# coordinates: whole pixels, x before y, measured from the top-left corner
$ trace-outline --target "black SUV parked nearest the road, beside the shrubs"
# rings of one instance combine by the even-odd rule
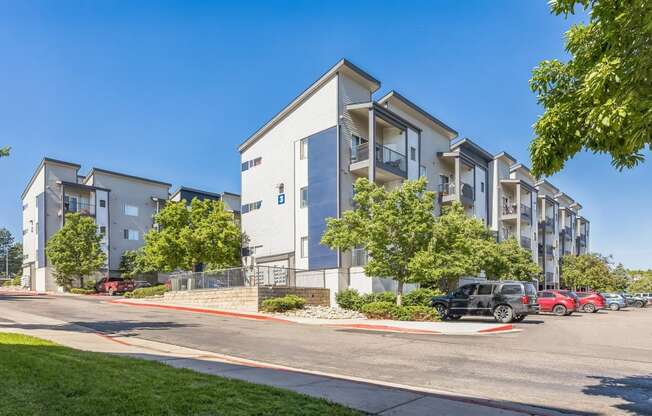
[[[507,323],[520,322],[529,314],[539,313],[534,284],[511,280],[464,285],[448,295],[432,298],[430,305],[444,320],[485,315]]]

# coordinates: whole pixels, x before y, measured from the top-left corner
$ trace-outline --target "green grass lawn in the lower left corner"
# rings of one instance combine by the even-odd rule
[[[0,333],[0,415],[359,415],[290,391]]]

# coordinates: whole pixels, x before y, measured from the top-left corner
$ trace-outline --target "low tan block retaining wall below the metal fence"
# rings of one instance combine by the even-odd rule
[[[265,299],[289,294],[301,296],[308,305],[330,306],[328,289],[289,287],[232,287],[226,289],[204,289],[167,292],[163,303],[178,305],[207,306],[219,309],[257,312]]]

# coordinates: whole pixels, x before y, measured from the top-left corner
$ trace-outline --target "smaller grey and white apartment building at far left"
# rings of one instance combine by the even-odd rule
[[[37,291],[59,289],[45,248],[67,213],[93,218],[107,255],[103,272],[117,274],[122,253],[142,246],[160,201],[168,199],[169,183],[99,168],[80,175],[80,168],[44,158],[22,194],[23,276]]]

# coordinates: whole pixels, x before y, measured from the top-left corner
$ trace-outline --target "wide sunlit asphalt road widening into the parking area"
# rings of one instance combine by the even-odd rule
[[[0,295],[0,319],[3,308],[107,333],[451,394],[575,414],[652,415],[652,307],[542,314],[515,325],[523,332],[485,336],[259,322],[96,297]]]

